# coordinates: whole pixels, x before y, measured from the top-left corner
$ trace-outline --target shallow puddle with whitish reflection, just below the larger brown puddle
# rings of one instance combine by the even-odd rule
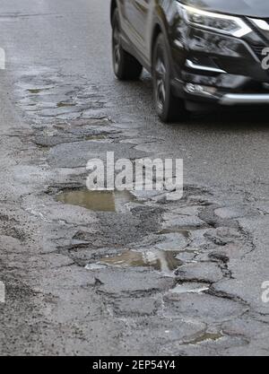
[[[135,252],[126,250],[115,257],[103,257],[100,264],[118,266],[118,267],[152,267],[163,273],[170,273],[182,265],[182,262],[176,258],[178,252],[148,250],[144,252]]]

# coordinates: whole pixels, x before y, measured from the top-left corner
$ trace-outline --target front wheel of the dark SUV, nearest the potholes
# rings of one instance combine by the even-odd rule
[[[163,122],[178,122],[187,118],[184,100],[176,97],[171,89],[169,50],[163,34],[156,39],[152,56],[154,103]]]

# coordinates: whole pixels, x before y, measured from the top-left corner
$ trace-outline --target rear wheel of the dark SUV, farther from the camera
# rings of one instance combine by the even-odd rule
[[[137,81],[140,78],[143,66],[121,46],[117,9],[112,20],[112,54],[113,68],[117,79],[120,81]]]

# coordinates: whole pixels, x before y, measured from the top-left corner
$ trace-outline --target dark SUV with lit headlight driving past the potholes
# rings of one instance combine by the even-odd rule
[[[163,121],[269,103],[268,0],[112,0],[111,23],[117,78],[151,72]]]

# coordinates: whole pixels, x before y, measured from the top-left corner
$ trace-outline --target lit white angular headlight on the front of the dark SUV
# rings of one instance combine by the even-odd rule
[[[221,34],[241,38],[252,30],[239,17],[206,12],[192,6],[178,4],[187,23],[206,30],[213,30]]]

